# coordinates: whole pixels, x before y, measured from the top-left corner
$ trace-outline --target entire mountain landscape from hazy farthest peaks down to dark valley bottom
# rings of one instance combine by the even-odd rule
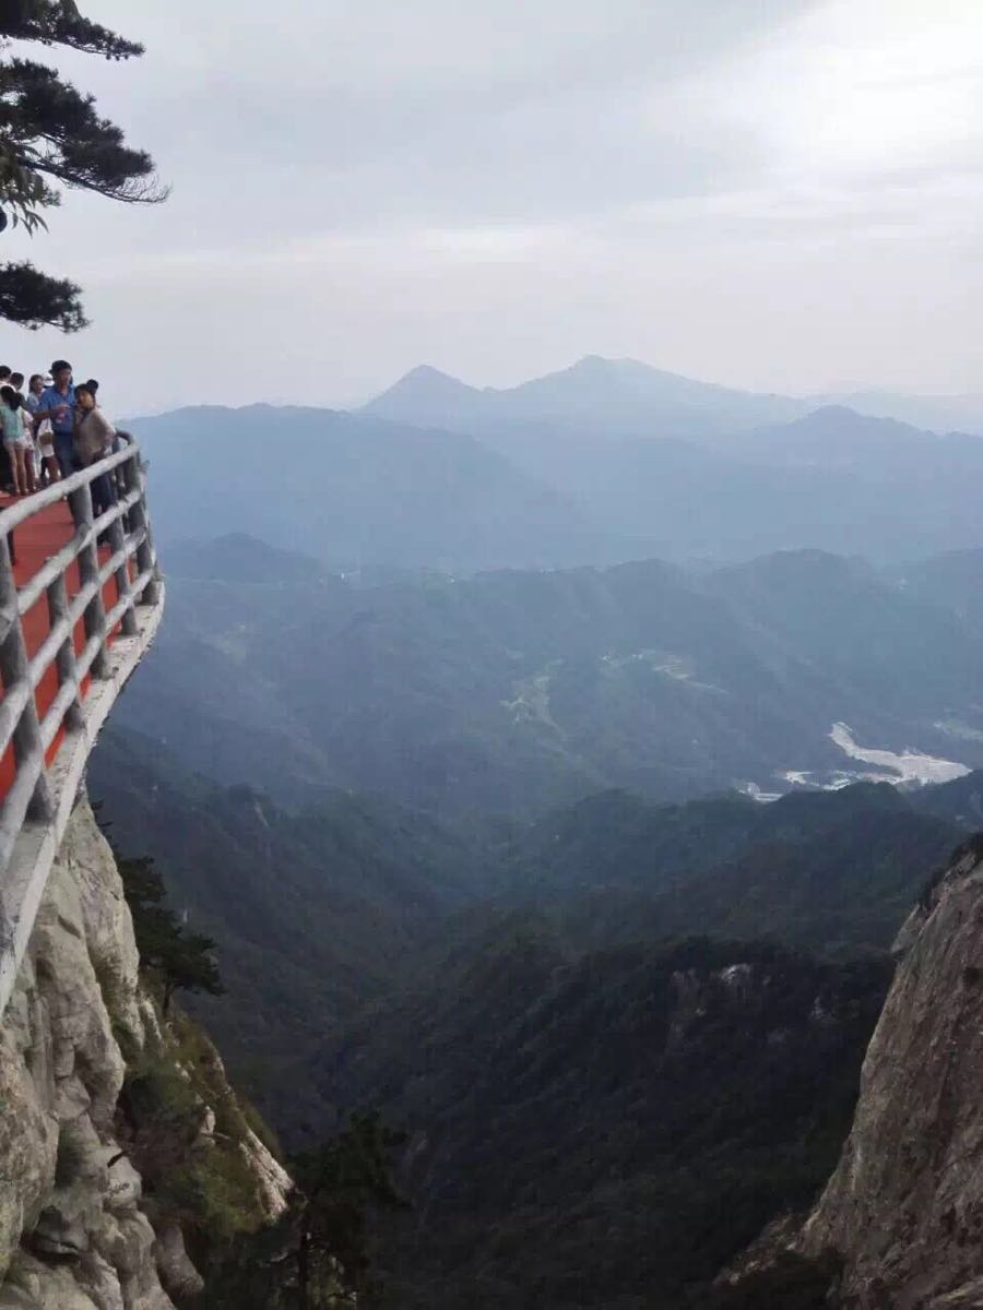
[[[983,427],[851,400],[588,358],[132,424],[168,621],[92,782],[287,1141],[409,1129],[385,1310],[717,1310],[834,1169],[983,823]]]

